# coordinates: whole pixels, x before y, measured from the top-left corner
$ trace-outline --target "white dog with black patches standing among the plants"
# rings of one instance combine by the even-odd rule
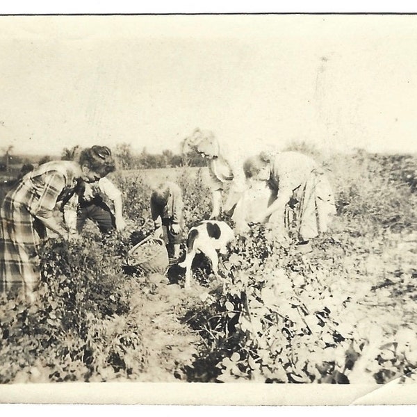
[[[218,277],[218,253],[227,254],[227,244],[234,240],[234,231],[225,222],[216,220],[204,220],[190,229],[187,237],[186,259],[179,263],[181,268],[186,268],[185,288],[190,288],[191,265],[195,254],[202,252],[211,261],[214,275]]]

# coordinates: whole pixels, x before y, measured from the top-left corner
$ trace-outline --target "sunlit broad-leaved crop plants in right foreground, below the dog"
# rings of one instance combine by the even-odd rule
[[[347,250],[332,238],[320,249],[335,244]],[[206,346],[189,380],[385,383],[416,366],[415,329],[390,332],[368,318],[343,263],[319,250],[303,256],[263,227],[230,252],[222,285],[200,297],[203,316],[186,318]]]

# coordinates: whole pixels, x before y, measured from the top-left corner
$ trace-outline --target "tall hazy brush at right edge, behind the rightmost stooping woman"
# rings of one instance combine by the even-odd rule
[[[353,234],[417,226],[417,158],[358,152],[332,162],[338,214]],[[414,173],[414,174],[411,174]]]

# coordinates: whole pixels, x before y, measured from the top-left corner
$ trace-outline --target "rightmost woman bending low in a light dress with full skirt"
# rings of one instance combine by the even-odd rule
[[[252,222],[267,222],[284,236],[293,229],[300,244],[327,231],[336,214],[334,195],[327,174],[313,158],[299,152],[263,153],[248,158],[244,171],[248,181],[261,181],[272,193]]]

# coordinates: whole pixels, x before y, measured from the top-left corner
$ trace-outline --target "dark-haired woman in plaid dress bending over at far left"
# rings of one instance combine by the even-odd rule
[[[40,281],[38,250],[47,228],[70,237],[54,216],[56,204],[76,204],[74,192],[82,181],[97,181],[114,170],[110,149],[93,146],[81,152],[78,163],[40,165],[8,192],[0,209],[0,292],[23,290],[33,300]]]

